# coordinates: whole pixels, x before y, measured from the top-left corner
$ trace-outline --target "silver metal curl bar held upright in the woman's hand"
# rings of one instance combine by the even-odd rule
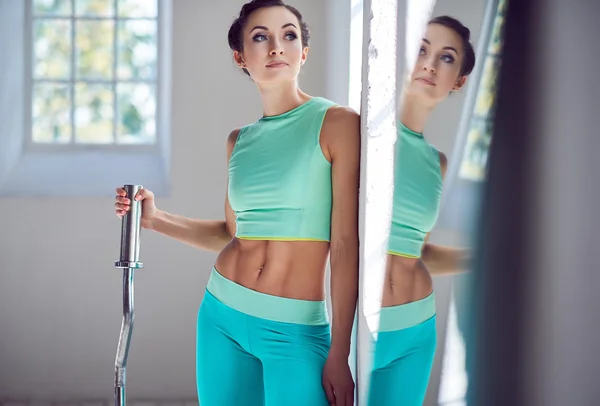
[[[142,218],[141,202],[134,200],[142,189],[141,185],[125,185],[127,197],[131,199],[130,210],[123,216],[121,223],[121,256],[115,262],[116,268],[123,268],[123,321],[115,360],[115,406],[125,406],[125,384],[127,356],[133,330],[133,277],[136,269],[144,267],[140,262],[140,230]]]

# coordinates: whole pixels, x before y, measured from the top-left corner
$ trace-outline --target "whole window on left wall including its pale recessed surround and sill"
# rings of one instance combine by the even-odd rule
[[[172,1],[5,3],[0,197],[167,194]]]

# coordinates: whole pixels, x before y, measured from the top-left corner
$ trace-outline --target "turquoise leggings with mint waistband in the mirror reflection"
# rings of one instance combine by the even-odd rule
[[[435,296],[383,307],[368,406],[422,406],[436,348]]]

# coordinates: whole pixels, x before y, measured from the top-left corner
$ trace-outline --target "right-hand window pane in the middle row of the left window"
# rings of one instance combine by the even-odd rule
[[[118,78],[121,80],[155,79],[156,21],[120,21],[118,30]]]

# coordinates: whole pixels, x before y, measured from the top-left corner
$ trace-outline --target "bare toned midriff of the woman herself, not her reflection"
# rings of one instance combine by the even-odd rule
[[[241,240],[221,251],[215,268],[257,292],[300,300],[325,300],[325,241]]]

